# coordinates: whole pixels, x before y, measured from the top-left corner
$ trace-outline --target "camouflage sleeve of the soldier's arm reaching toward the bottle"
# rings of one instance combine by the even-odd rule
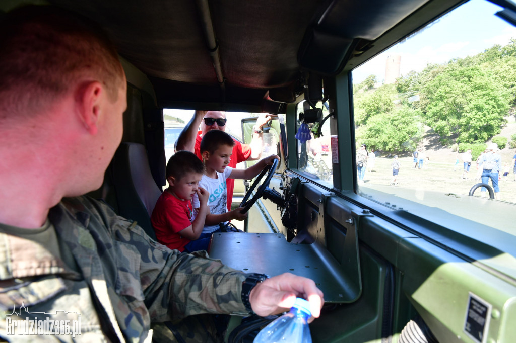
[[[106,207],[102,212],[105,210],[110,211]],[[240,295],[246,273],[209,259],[204,251],[187,254],[170,250],[139,226],[124,225],[124,218],[108,215],[104,220],[111,237],[126,246],[123,264],[139,271],[153,322],[202,313],[248,315]]]

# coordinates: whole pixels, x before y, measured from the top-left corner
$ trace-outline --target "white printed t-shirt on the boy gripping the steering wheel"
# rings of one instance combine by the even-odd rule
[[[228,212],[228,190],[226,187],[226,179],[230,176],[232,167],[225,167],[224,173],[217,173],[217,178],[212,179],[206,175],[203,175],[201,181],[199,181],[199,187],[203,187],[206,191],[208,191],[208,207],[209,213],[211,214],[224,214]],[[199,197],[196,195],[193,196],[193,208],[199,208]],[[224,224],[226,224],[224,222]],[[209,233],[217,230],[219,225],[211,225],[204,226],[202,229],[202,233]]]

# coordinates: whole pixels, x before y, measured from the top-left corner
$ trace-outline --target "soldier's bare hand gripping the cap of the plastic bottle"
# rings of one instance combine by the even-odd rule
[[[297,297],[310,302],[312,317],[309,322],[319,317],[324,304],[322,291],[313,280],[291,273],[284,273],[257,284],[251,289],[249,302],[254,313],[266,317],[288,311]]]

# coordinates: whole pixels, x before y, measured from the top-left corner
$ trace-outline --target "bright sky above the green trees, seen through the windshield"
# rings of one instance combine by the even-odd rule
[[[495,44],[507,45],[516,38],[516,27],[494,15],[502,7],[486,0],[471,0],[433,22],[410,39],[398,43],[353,71],[353,83],[369,75],[385,78],[386,58],[401,56],[400,74],[419,72],[428,63],[446,63],[456,57],[473,56]]]

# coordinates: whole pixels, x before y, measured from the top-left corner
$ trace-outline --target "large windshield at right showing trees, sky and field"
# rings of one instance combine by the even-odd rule
[[[516,28],[500,10],[465,3],[352,72],[358,194],[514,232]]]

